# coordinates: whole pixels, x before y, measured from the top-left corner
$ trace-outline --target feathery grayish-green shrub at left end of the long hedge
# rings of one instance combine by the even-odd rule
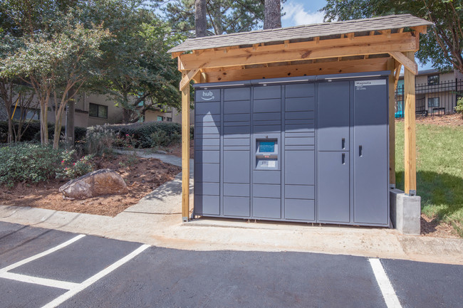
[[[115,134],[108,129],[108,125],[88,127],[85,135],[85,148],[88,154],[101,156],[113,150]]]

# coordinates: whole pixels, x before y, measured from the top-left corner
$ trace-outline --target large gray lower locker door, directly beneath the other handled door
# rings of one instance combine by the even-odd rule
[[[318,221],[349,222],[349,152],[318,152]]]

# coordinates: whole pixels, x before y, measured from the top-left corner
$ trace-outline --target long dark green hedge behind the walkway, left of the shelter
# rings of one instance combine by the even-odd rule
[[[104,129],[114,132],[113,145],[116,147],[165,147],[179,142],[182,135],[182,126],[172,122],[107,124]]]

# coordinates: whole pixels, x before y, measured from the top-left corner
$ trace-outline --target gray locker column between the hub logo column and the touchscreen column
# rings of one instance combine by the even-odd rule
[[[249,217],[251,89],[225,87],[223,91],[223,215]]]

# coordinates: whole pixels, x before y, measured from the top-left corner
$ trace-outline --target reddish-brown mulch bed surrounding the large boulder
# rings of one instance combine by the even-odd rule
[[[125,208],[138,203],[157,186],[174,179],[181,171],[180,167],[165,164],[159,159],[142,159],[131,155],[113,155],[109,159],[95,159],[94,162],[95,170],[108,168],[118,172],[127,184],[129,193],[85,200],[64,200],[58,188],[66,184],[66,181],[53,179],[40,184],[1,187],[0,204],[116,216]]]

